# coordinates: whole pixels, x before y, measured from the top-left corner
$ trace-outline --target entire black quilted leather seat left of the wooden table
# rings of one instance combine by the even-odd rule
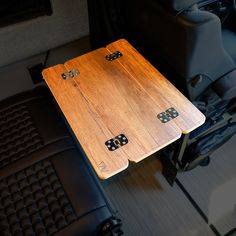
[[[114,216],[47,91],[2,101],[0,235],[120,235]]]

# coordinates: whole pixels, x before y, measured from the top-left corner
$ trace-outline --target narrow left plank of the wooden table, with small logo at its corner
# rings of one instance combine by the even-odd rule
[[[107,140],[113,137],[113,134],[87,103],[77,83],[73,79],[61,78],[63,72],[65,67],[58,65],[45,70],[43,75],[47,78],[49,88],[95,171],[100,178],[105,179],[126,169],[128,160],[123,149],[118,149],[116,155],[110,155],[104,148],[104,142],[101,143],[100,139]],[[83,127],[84,124],[87,124],[86,128]]]

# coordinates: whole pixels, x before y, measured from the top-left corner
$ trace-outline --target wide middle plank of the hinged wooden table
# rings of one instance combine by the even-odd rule
[[[178,139],[181,132],[171,123],[163,128],[156,117],[161,108],[134,83],[120,63],[104,60],[107,54],[105,48],[98,49],[65,65],[68,70],[80,69],[80,76],[75,80],[83,96],[113,134],[109,138],[124,133],[130,145],[124,146],[123,150],[129,160],[138,162]],[[101,139],[101,142],[106,140]]]

